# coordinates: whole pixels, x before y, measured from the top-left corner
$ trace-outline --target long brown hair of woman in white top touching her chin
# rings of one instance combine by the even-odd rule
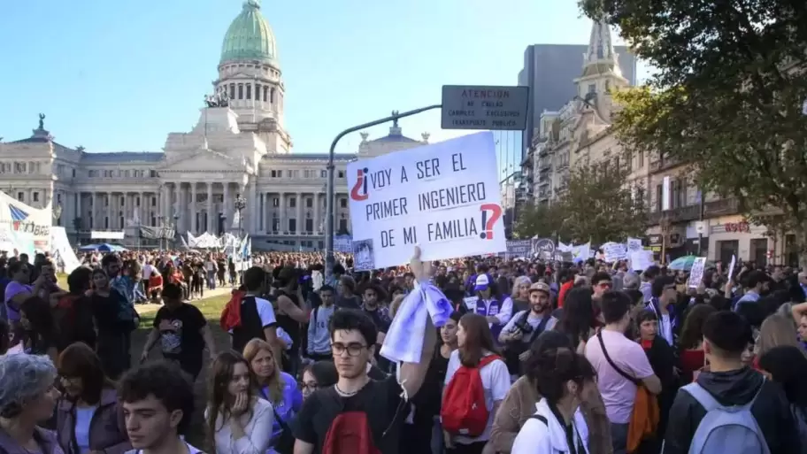
[[[227,419],[230,418],[230,407],[233,404],[233,396],[227,395],[227,386],[233,380],[233,373],[235,365],[242,364],[247,367],[250,372],[250,386],[247,387],[247,396],[250,398],[250,403],[253,398],[253,389],[255,387],[255,375],[252,373],[250,363],[246,358],[234,350],[222,351],[219,356],[213,360],[210,369],[210,378],[208,383],[208,398],[207,398],[207,435],[210,439],[211,450],[215,451],[215,436],[216,431],[227,424]],[[216,427],[216,419],[219,419],[219,412],[222,413],[221,427]],[[252,409],[250,405],[250,419],[252,418]]]

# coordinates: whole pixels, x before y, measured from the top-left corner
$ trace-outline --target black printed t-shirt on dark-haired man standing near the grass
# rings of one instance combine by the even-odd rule
[[[153,326],[159,331],[163,356],[179,361],[182,366],[201,366],[205,325],[207,320],[193,304],[183,303],[174,309],[161,307]]]

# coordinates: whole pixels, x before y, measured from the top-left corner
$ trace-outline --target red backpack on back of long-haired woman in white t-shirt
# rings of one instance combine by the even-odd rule
[[[488,407],[480,370],[496,361],[496,355],[480,359],[479,366],[459,366],[442,397],[442,428],[453,435],[479,436],[488,426]]]

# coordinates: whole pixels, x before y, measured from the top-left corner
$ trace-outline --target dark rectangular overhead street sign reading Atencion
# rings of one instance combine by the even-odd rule
[[[443,129],[523,131],[529,87],[442,86]]]

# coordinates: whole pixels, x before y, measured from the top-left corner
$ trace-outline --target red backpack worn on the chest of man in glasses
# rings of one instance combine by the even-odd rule
[[[381,454],[365,412],[343,412],[328,427],[322,454]]]

